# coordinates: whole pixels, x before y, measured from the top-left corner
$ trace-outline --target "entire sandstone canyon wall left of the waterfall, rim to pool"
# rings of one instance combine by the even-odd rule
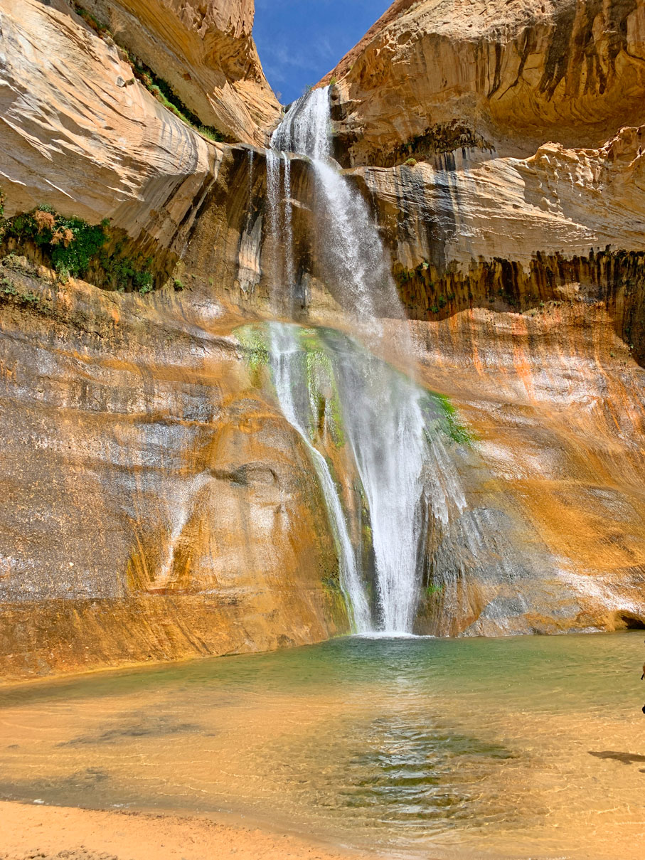
[[[248,151],[135,77],[140,57],[202,123],[263,140],[278,105],[253,4],[140,6],[0,7],[3,678],[347,630],[315,474],[236,335],[253,313],[215,295],[234,277],[246,215],[229,224],[224,204]],[[218,262],[198,278],[181,260],[206,200]],[[103,261],[86,277],[110,290],[11,232],[37,206],[109,222],[111,275]],[[132,292],[135,255],[163,290]]]

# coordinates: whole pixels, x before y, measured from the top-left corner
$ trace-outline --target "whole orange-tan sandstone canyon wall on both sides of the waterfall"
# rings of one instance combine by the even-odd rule
[[[276,294],[251,144],[278,108],[251,4],[138,6],[93,0],[94,23],[63,0],[0,6],[5,215],[109,218],[157,286],[65,281],[3,243],[7,678],[348,627],[316,472],[248,333],[275,317],[351,331],[310,165],[292,159],[296,283]],[[419,632],[645,624],[643,15],[399,0],[329,76],[337,157],[390,254],[419,378],[467,431],[450,453],[468,506],[431,525]],[[228,141],[164,107],[124,48]]]

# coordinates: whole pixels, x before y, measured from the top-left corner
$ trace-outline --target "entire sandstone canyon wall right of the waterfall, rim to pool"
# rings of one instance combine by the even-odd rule
[[[643,15],[401,0],[326,79],[423,378],[477,439],[478,560],[466,528],[433,550],[420,629],[642,624]]]

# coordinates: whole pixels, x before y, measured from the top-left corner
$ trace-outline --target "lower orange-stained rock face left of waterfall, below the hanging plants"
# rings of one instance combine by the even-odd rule
[[[252,384],[243,320],[207,285],[141,298],[15,265],[0,302],[3,677],[347,630],[315,475]]]

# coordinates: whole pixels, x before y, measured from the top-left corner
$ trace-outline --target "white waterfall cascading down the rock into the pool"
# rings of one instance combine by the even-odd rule
[[[344,310],[353,315],[366,346],[379,351],[383,336],[379,317],[403,318],[404,314],[365,201],[330,158],[328,89],[316,89],[298,100],[273,132],[271,144],[272,150],[267,153],[269,208],[273,212],[270,218],[274,235],[280,233],[282,237],[282,276],[292,276],[294,271],[289,232],[291,163],[284,155],[289,152],[310,157],[314,170],[319,203],[316,229],[324,234],[321,246],[325,277],[334,281],[336,296]],[[280,183],[280,161],[284,165],[284,183]],[[283,200],[279,200],[280,185]],[[289,281],[290,289],[291,286]],[[313,405],[302,370],[306,356],[298,341],[298,326],[269,323],[269,329],[273,382],[280,407],[309,446],[335,531],[341,556],[341,585],[351,605],[355,629],[408,633],[421,585],[420,560],[428,507],[433,518],[444,524],[451,506],[458,510],[464,507],[463,494],[436,432],[437,409],[428,409],[427,392],[410,378],[361,351],[345,335],[321,335],[341,401],[343,430],[369,509],[377,590],[376,606],[371,611],[339,490],[307,431]],[[411,344],[405,347],[402,352],[411,354]]]

